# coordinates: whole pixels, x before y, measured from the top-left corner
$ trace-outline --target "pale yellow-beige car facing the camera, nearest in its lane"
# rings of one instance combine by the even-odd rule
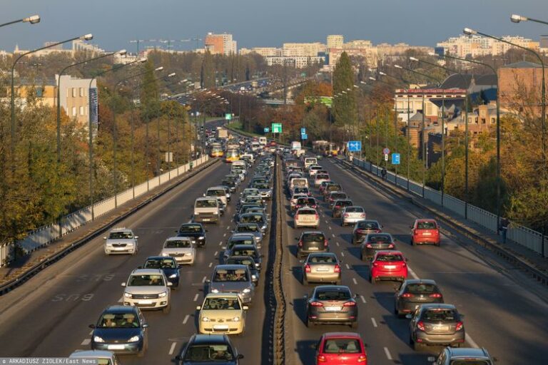
[[[201,334],[243,334],[245,331],[245,311],[236,293],[211,293],[196,307],[198,329]]]

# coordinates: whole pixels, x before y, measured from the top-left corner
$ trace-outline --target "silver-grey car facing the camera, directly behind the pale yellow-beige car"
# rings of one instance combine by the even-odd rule
[[[243,304],[249,304],[255,294],[255,285],[246,265],[217,265],[206,283],[208,293],[236,293]]]

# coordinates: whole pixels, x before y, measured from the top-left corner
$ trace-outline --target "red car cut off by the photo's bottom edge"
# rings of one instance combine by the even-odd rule
[[[360,334],[327,332],[316,348],[316,365],[367,365],[367,353]]]

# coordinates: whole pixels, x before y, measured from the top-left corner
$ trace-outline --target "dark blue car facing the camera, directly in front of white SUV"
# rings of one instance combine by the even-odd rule
[[[148,348],[148,324],[141,309],[126,305],[107,307],[96,324],[90,324],[91,349],[116,354],[145,355]]]

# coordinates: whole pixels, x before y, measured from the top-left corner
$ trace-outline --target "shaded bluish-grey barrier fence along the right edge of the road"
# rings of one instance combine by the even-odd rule
[[[372,163],[362,161],[358,158],[354,158],[352,163],[363,170],[380,176],[380,170],[382,170],[382,168],[377,167]],[[442,205],[448,210],[454,212],[456,215],[460,215],[460,217],[467,217],[467,220],[476,222],[478,225],[487,228],[487,230],[497,233],[497,216],[491,212],[487,212],[487,210],[467,204],[466,202],[463,202],[462,200],[451,195],[442,195],[440,191],[422,185],[422,183],[417,183],[412,180],[407,181],[407,178],[400,175],[398,175],[396,179],[396,175],[390,171],[387,171],[386,180],[394,184],[397,180],[397,185],[403,189],[413,192],[414,194],[430,200],[437,205]],[[537,252],[543,257],[548,257],[548,237],[544,236],[543,240],[542,234],[539,232],[529,230],[529,228],[523,227],[522,225],[511,223],[507,231],[507,238],[519,245],[529,248],[529,250]]]

